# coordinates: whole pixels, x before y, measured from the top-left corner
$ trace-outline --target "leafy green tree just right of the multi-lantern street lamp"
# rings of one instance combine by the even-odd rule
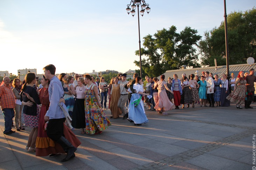
[[[148,76],[159,76],[167,70],[179,69],[182,65],[199,67],[198,54],[196,54],[197,42],[201,39],[198,31],[186,27],[180,33],[172,25],[168,30],[158,30],[157,33],[145,36],[144,47],[141,48],[141,67]],[[135,51],[139,56],[139,50]],[[139,61],[134,61],[139,66]]]

